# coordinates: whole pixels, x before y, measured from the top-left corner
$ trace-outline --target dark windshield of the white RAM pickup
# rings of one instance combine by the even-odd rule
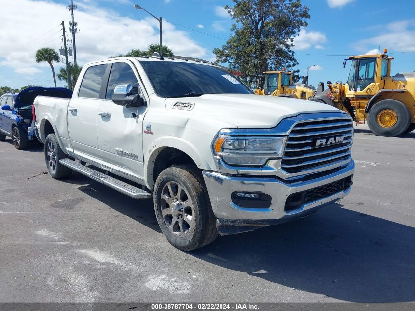
[[[203,94],[252,94],[235,76],[218,67],[173,61],[140,63],[156,94],[164,98]]]

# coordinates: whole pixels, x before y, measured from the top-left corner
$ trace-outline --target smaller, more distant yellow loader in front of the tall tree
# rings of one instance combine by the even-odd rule
[[[293,75],[291,72],[283,71],[265,71],[264,87],[257,88],[255,94],[270,95],[280,97],[291,97],[300,99],[311,98],[316,89],[314,86],[307,85],[307,76],[301,83],[293,84]]]

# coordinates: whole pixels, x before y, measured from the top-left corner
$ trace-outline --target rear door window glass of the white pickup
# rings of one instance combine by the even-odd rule
[[[79,97],[99,98],[105,69],[107,64],[92,66],[86,70],[79,88]]]

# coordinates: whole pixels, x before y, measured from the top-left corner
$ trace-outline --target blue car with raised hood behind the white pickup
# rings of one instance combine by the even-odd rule
[[[0,97],[0,141],[12,138],[18,150],[36,140],[33,122],[33,102],[37,96],[71,98],[72,91],[63,87],[28,87],[18,94],[7,92]]]

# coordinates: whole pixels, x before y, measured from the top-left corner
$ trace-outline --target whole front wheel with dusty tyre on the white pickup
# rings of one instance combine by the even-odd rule
[[[218,236],[203,178],[190,165],[172,166],[160,173],[154,187],[154,211],[168,242],[183,251],[205,246]]]

